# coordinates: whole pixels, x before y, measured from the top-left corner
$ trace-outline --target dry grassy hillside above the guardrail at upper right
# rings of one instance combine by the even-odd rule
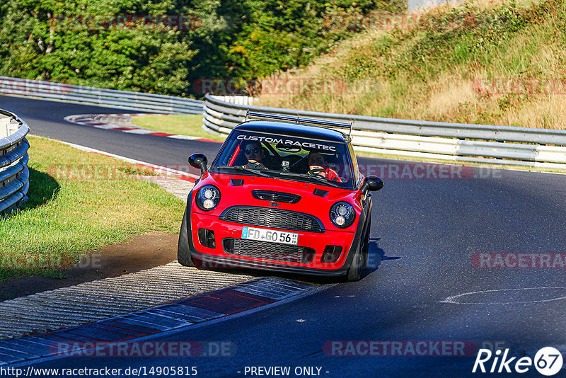
[[[367,30],[308,67],[277,76],[322,80],[325,89],[262,93],[260,105],[566,130],[565,9],[562,0],[439,6],[394,30]],[[473,23],[422,27],[454,14],[508,21],[487,35]]]

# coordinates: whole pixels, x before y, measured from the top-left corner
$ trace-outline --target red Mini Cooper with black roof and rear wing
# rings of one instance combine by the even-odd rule
[[[366,263],[371,191],[342,122],[249,112],[187,198],[178,261],[359,280]],[[321,127],[325,126],[325,127]]]

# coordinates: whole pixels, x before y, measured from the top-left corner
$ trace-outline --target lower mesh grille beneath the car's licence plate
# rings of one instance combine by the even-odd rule
[[[263,258],[265,260],[284,261],[286,263],[311,263],[314,258],[313,248],[290,246],[247,239],[226,238],[222,241],[224,252],[236,256]]]

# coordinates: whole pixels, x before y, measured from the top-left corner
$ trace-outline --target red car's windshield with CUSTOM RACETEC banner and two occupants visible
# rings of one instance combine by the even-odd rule
[[[299,179],[352,188],[345,142],[236,130],[224,143],[214,170]]]

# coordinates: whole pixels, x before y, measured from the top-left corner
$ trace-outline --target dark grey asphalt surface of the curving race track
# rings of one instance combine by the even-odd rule
[[[152,164],[186,164],[197,151],[212,161],[220,146],[63,120],[123,110],[4,96],[0,108],[20,115],[33,134]],[[258,367],[290,367],[289,377],[308,375],[295,375],[296,367],[314,367],[321,377],[492,377],[472,373],[479,348],[499,345],[531,358],[545,346],[566,353],[566,176],[466,168],[461,178],[415,178],[415,165],[404,161],[359,162],[383,170],[385,181],[373,195],[371,267],[361,281],[149,339],[232,343],[224,356],[67,357],[34,366],[195,366],[199,377],[277,376]],[[412,173],[403,176],[404,169]],[[370,351],[364,340],[378,347]],[[419,341],[424,355],[407,346]],[[431,345],[448,346],[437,353]],[[534,367],[520,375],[541,377]],[[564,369],[555,375],[565,376]]]

